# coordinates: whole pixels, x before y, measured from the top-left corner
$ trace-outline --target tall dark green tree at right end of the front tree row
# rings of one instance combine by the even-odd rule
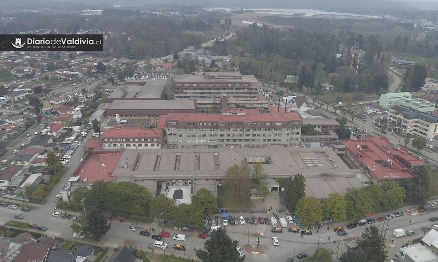
[[[407,200],[415,204],[425,204],[431,195],[431,177],[424,166],[416,166],[412,170],[413,178],[407,186]]]

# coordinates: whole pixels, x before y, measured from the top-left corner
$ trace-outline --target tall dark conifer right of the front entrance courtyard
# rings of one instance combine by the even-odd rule
[[[305,188],[306,180],[304,179],[304,175],[297,174],[293,179],[292,177],[289,178],[289,182],[284,188],[283,201],[290,213],[295,211],[298,200],[306,196],[304,193]]]

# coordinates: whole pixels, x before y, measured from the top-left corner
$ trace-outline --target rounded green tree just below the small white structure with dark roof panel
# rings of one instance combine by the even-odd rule
[[[201,229],[205,226],[204,215],[193,204],[180,204],[175,212],[174,225],[189,229]]]

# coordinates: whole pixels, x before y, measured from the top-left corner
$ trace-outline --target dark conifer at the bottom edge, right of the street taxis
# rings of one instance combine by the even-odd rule
[[[380,234],[376,226],[365,228],[361,234],[359,247],[364,251],[368,261],[384,262],[388,257],[385,239]]]

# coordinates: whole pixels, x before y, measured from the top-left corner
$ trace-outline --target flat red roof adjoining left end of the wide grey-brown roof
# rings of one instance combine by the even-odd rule
[[[122,153],[121,151],[91,152],[72,176],[80,175],[81,179],[87,178],[87,182],[112,181],[112,174]]]

